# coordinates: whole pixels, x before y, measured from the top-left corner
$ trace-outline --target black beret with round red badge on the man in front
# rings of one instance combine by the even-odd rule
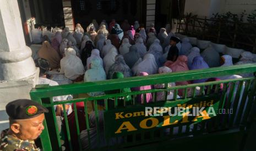
[[[10,119],[19,120],[37,117],[42,113],[47,113],[48,109],[35,101],[18,99],[6,105],[6,112]]]

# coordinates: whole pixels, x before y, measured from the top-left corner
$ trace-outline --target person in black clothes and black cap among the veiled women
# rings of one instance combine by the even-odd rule
[[[170,39],[170,49],[168,52],[167,60],[170,60],[172,62],[175,62],[179,56],[179,50],[176,46],[177,43],[179,43],[179,39],[177,37],[172,36]]]

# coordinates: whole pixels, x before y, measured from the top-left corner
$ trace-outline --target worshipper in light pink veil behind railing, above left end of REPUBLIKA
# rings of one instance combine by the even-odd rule
[[[138,74],[138,76],[146,76],[146,75],[149,75],[149,74],[146,72],[140,72]],[[133,90],[134,91],[143,91],[143,90],[151,90],[151,89],[152,89],[151,85],[145,85],[145,86],[140,86],[140,87],[134,88]],[[152,102],[152,94],[148,93],[145,95],[146,95],[146,100],[144,100],[144,103]],[[137,100],[137,102],[143,103],[143,94],[137,95],[136,100]]]

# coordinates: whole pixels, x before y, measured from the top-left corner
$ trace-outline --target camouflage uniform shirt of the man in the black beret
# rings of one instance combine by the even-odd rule
[[[20,140],[19,138],[16,138],[12,135],[8,135],[7,131],[8,131],[8,129],[2,131],[2,133],[1,133],[0,150],[3,150],[3,151],[40,150],[40,148],[36,148],[36,144],[34,141]]]

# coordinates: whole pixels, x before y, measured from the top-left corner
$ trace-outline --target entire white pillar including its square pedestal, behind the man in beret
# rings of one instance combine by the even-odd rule
[[[39,69],[26,46],[17,0],[0,0],[0,130],[8,127],[6,104],[30,98]]]

